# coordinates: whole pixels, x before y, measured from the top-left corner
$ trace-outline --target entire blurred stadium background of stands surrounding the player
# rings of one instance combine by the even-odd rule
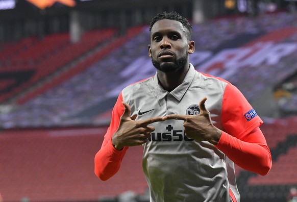
[[[142,201],[141,147],[98,180],[120,90],[155,73],[149,22],[191,20],[199,71],[235,84],[263,118],[266,176],[236,167],[243,202],[297,201],[297,15],[284,0],[0,0],[0,193],[3,201]]]

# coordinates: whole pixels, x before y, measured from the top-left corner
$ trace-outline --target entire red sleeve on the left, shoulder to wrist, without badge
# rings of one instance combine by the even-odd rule
[[[111,142],[112,135],[118,128],[120,116],[123,114],[122,95],[117,98],[112,110],[112,117],[109,128],[104,136],[100,150],[95,155],[95,174],[103,181],[110,179],[120,168],[121,161],[126,154],[128,147],[122,150],[114,148]]]

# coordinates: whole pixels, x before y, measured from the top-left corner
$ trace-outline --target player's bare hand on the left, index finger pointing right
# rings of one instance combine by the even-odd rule
[[[136,115],[130,116],[131,107],[125,102],[122,102],[122,104],[125,111],[120,117],[117,131],[112,136],[112,144],[118,150],[121,150],[124,146],[136,146],[147,142],[147,138],[155,131],[155,127],[149,126],[149,124],[164,121],[164,117],[136,121]]]

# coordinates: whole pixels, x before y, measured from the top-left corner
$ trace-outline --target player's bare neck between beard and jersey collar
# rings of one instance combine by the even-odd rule
[[[160,70],[157,70],[157,75],[160,84],[165,90],[171,92],[176,87],[181,85],[181,83],[184,81],[186,77],[189,68],[190,66],[189,64],[187,64],[184,68],[173,72],[162,72]]]

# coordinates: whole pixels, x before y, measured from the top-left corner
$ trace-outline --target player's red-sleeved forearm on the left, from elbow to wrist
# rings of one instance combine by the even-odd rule
[[[111,140],[105,144],[95,155],[95,174],[103,181],[110,179],[120,168],[127,147],[117,150]]]

